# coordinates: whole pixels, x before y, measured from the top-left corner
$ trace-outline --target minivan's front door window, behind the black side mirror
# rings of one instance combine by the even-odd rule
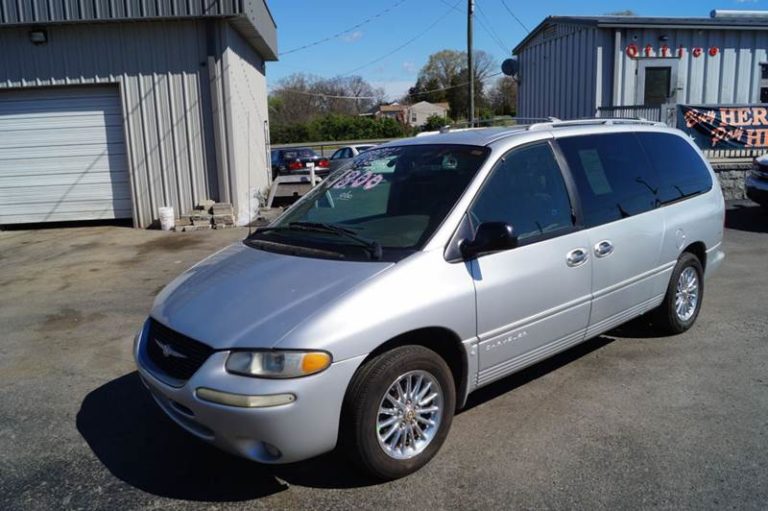
[[[519,243],[573,228],[571,202],[547,143],[513,149],[499,160],[470,209],[473,227],[506,222]]]

